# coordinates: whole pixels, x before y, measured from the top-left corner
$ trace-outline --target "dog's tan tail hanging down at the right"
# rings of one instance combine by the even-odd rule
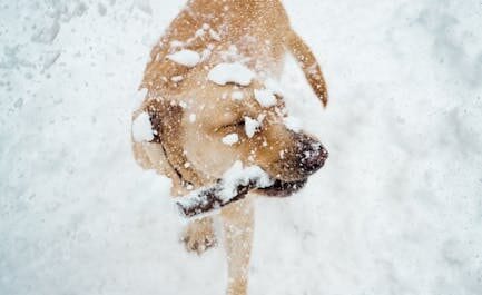
[[[322,100],[323,106],[326,107],[328,104],[328,90],[322,69],[319,68],[312,50],[293,30],[291,30],[287,36],[286,46],[298,61],[298,65],[302,67],[303,72],[316,96]]]

